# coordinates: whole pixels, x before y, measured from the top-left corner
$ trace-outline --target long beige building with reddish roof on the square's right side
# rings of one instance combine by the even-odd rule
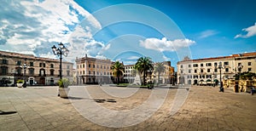
[[[220,63],[221,69],[218,68]],[[198,60],[187,57],[177,62],[177,83],[213,84],[218,83],[220,77],[232,79],[236,73],[244,71],[256,72],[256,52]]]

